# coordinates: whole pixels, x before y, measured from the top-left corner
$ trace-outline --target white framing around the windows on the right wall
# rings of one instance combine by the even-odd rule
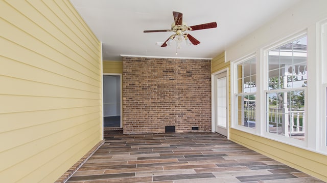
[[[322,29],[322,27],[325,27]],[[228,57],[230,60],[230,128],[253,134],[262,138],[270,139],[276,142],[281,142],[287,145],[298,147],[301,149],[313,151],[322,155],[327,155],[327,72],[322,69],[327,67],[327,42],[322,42],[321,33],[327,35],[327,18],[316,21],[314,24],[302,27],[300,31],[293,30],[293,33],[285,33],[277,36],[277,39],[270,39],[266,44],[261,44],[258,47],[253,47],[249,50],[244,50],[239,57]],[[304,141],[284,137],[281,135],[271,134],[266,132],[266,104],[267,92],[278,92],[277,90],[268,90],[268,50],[274,49],[278,46],[290,43],[295,39],[307,36],[307,87],[296,87],[291,90],[304,89],[305,90],[305,121],[311,120],[310,128],[306,122],[306,139]],[[276,38],[276,37],[275,37]],[[232,52],[235,53],[235,52]],[[249,59],[256,57],[256,129],[242,127],[237,125],[236,119],[237,106],[237,65]],[[264,121],[264,122],[263,122]]]

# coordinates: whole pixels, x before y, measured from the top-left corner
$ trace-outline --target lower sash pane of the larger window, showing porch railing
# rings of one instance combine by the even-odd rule
[[[305,140],[304,96],[305,90],[267,93],[267,132]]]

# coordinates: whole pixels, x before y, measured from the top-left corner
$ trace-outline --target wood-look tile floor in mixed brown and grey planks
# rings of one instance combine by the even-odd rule
[[[105,134],[67,182],[323,182],[216,133]]]

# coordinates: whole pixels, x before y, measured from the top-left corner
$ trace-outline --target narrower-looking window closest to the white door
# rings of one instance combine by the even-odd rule
[[[235,95],[237,125],[255,128],[256,60],[255,57],[237,64]]]

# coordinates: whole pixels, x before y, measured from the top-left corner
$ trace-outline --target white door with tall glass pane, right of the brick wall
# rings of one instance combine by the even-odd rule
[[[215,131],[227,137],[227,72],[215,75]]]

